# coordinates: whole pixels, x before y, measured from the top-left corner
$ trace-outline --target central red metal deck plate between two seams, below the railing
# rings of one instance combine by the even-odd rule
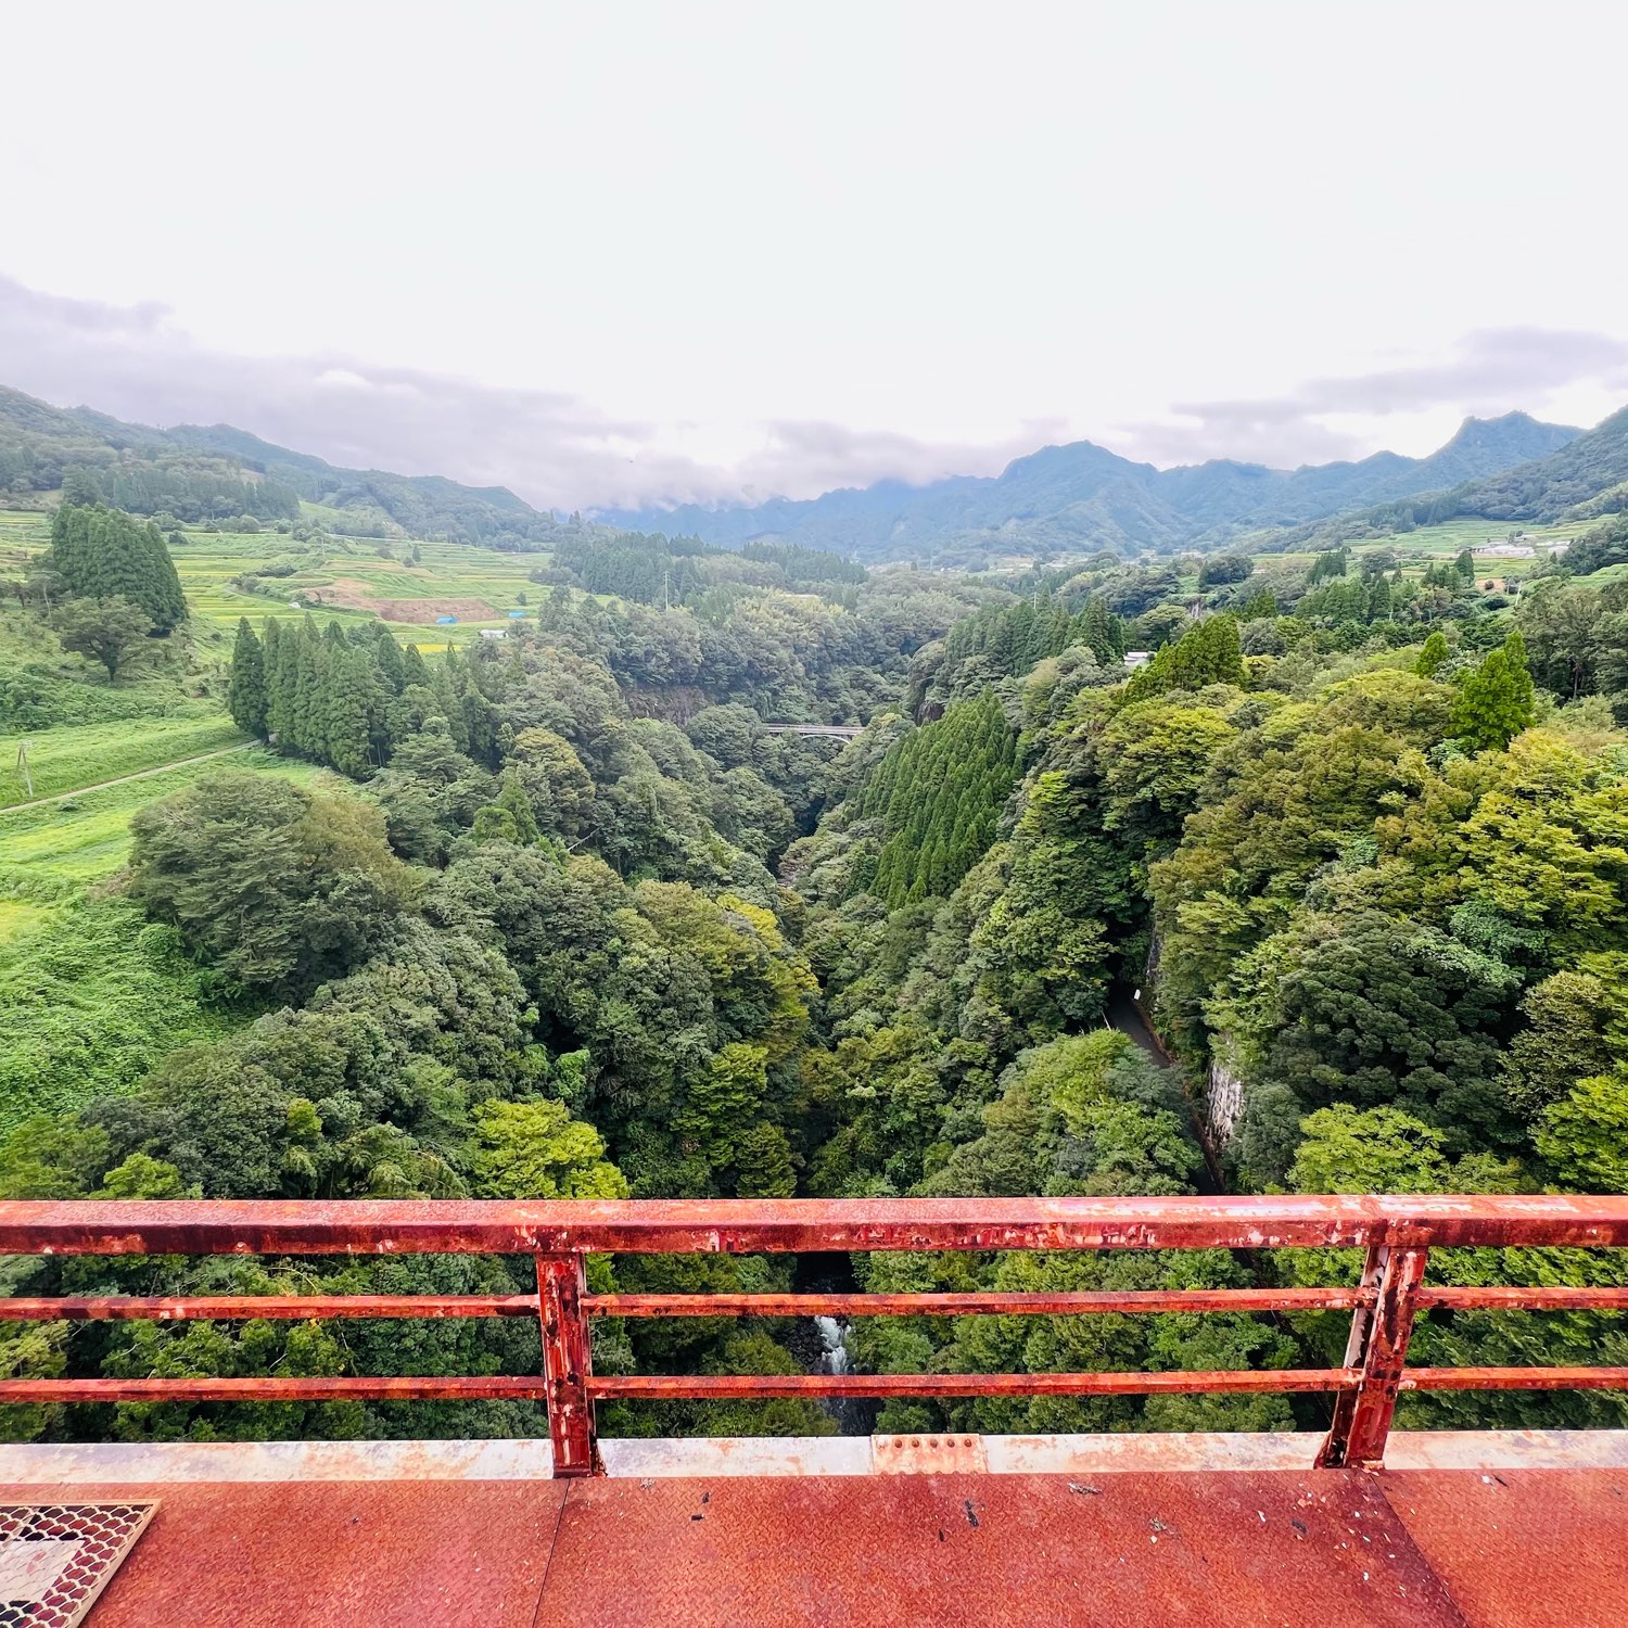
[[[588,1623],[1465,1628],[1374,1477],[1304,1470],[576,1481],[537,1628]]]

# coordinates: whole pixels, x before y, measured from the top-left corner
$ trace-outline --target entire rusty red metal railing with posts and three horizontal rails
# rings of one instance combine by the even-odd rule
[[[0,1402],[532,1398],[557,1475],[594,1468],[609,1397],[965,1397],[1327,1392],[1320,1465],[1376,1465],[1402,1390],[1628,1389],[1628,1368],[1408,1368],[1429,1307],[1621,1311],[1628,1288],[1426,1286],[1434,1247],[1628,1247],[1628,1197],[674,1200],[563,1203],[0,1203],[0,1255],[505,1254],[534,1294],[140,1296],[0,1301],[5,1319],[536,1317],[540,1374],[379,1379],[3,1379]],[[1356,1288],[1045,1294],[589,1294],[591,1254],[1364,1249]],[[1350,1311],[1332,1369],[1088,1374],[602,1374],[591,1317]]]

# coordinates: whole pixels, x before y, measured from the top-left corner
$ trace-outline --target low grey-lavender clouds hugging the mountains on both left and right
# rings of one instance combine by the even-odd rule
[[[552,508],[705,508],[876,482],[923,487],[995,475],[1070,433],[1061,418],[1042,418],[995,443],[931,441],[775,418],[754,451],[723,466],[681,451],[684,427],[615,417],[581,396],[344,355],[233,355],[200,345],[164,306],[63,298],[3,275],[0,360],[8,384],[62,405],[91,402],[142,423],[233,423],[335,464],[503,485]],[[1371,436],[1353,420],[1442,405],[1503,412],[1579,381],[1628,389],[1628,344],[1486,329],[1439,363],[1314,378],[1278,397],[1177,402],[1167,420],[1102,440],[1159,466],[1239,457],[1281,469],[1368,451]]]

